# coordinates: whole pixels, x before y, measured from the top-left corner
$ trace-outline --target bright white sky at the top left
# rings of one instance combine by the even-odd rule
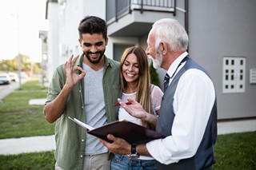
[[[46,0],[8,0],[0,6],[0,60],[19,53],[41,61],[39,30],[48,30]]]

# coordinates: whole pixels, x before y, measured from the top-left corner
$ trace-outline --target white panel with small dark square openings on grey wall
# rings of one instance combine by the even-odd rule
[[[223,57],[223,93],[243,93],[246,57]]]

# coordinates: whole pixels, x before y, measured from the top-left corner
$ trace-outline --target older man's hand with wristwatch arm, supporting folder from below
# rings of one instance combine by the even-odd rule
[[[102,144],[106,146],[110,150],[110,152],[114,152],[120,155],[128,155],[130,154],[130,144],[121,138],[115,137],[111,134],[107,135],[109,140],[112,140],[113,143],[109,143],[106,140],[99,139]]]

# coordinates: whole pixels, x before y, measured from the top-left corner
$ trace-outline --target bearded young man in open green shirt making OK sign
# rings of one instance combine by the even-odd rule
[[[55,70],[44,113],[46,121],[56,121],[56,169],[105,170],[110,168],[108,149],[68,117],[93,127],[118,119],[119,63],[104,55],[108,38],[101,18],[83,18],[78,33],[83,54]]]

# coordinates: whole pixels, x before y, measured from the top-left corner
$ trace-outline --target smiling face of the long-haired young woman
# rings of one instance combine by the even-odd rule
[[[123,62],[122,76],[127,83],[137,83],[139,77],[138,58],[134,53],[127,55],[126,60]]]

